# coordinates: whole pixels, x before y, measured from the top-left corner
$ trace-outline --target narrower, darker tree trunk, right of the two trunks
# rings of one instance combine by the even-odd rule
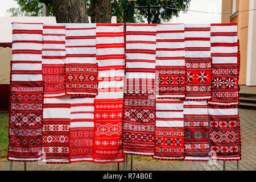
[[[111,0],[90,0],[90,21],[92,23],[111,23]]]

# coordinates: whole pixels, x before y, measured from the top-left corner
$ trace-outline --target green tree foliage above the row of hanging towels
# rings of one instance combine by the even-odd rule
[[[9,9],[9,13],[13,16],[38,16],[38,7],[40,2],[46,3],[49,6],[49,15],[52,15],[53,6],[52,0],[14,0],[18,3],[19,8]],[[147,6],[147,1],[150,1],[152,6],[163,5],[160,0],[137,0],[134,6]],[[191,0],[169,0],[166,6],[183,9],[151,9],[151,23],[168,22],[175,16],[179,16],[181,11],[185,12],[188,9]],[[131,3],[128,0],[112,0],[112,15],[117,16],[117,22],[144,23],[147,22],[147,9],[131,10]],[[86,0],[87,7],[90,5],[90,0]],[[90,15],[89,9],[87,9]]]

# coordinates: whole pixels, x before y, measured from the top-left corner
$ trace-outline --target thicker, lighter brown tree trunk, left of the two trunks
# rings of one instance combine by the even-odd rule
[[[57,23],[89,23],[86,0],[52,0]]]

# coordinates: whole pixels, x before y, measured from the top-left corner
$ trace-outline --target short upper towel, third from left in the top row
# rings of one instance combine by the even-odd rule
[[[66,89],[70,96],[97,94],[96,24],[66,24]]]

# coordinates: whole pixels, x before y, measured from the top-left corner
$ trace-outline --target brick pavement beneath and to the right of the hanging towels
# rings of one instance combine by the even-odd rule
[[[256,133],[256,111],[239,109],[241,120],[241,139],[242,139],[242,160],[240,161],[240,170],[256,170],[255,159],[255,133]],[[237,162],[227,161],[226,170],[236,170]],[[23,170],[23,162],[14,162],[13,170]],[[0,162],[0,170],[9,170],[10,162]],[[123,169],[123,163],[120,164]],[[130,170],[130,162],[128,164]],[[38,164],[37,162],[27,163],[27,170],[51,170],[51,171],[67,171],[67,170],[117,170],[117,164],[94,164],[88,162],[72,163],[72,164]],[[133,161],[133,170],[196,170],[196,171],[216,171],[223,170],[223,162],[218,161],[216,164],[208,162],[185,162],[185,161],[157,161],[157,162],[141,162]]]

